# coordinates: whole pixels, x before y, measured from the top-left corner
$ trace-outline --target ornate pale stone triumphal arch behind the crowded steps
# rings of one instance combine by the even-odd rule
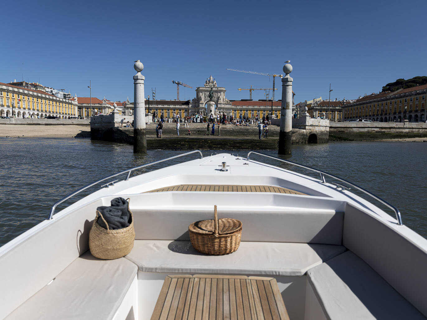
[[[231,102],[225,98],[225,88],[218,87],[212,75],[206,79],[203,87],[196,88],[196,98],[191,102],[194,113],[209,116],[210,113],[231,113]]]

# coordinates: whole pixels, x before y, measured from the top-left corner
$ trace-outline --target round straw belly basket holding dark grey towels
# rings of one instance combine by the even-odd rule
[[[129,201],[129,199],[127,199]],[[128,204],[129,209],[129,204]],[[126,256],[131,252],[134,240],[135,229],[133,224],[133,214],[130,212],[130,224],[126,228],[110,230],[101,212],[97,211],[97,216],[89,232],[89,249],[92,256],[99,259],[117,259]],[[108,229],[101,227],[97,221],[98,217],[104,220]]]

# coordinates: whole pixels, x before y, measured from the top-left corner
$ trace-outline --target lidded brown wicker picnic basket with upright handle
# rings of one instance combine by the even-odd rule
[[[242,238],[242,222],[236,219],[218,220],[216,206],[213,220],[197,221],[188,227],[191,244],[201,253],[223,255],[236,251]]]

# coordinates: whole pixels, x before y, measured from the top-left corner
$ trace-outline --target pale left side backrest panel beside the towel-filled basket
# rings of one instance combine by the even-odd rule
[[[43,288],[85,253],[99,199],[67,215],[28,230],[27,236],[0,256],[0,319]],[[38,232],[31,234],[34,230]],[[18,238],[15,240],[19,240]]]

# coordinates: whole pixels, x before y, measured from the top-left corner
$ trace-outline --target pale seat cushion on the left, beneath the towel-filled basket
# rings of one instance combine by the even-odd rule
[[[86,252],[6,319],[112,319],[136,274],[125,258],[100,260]]]

